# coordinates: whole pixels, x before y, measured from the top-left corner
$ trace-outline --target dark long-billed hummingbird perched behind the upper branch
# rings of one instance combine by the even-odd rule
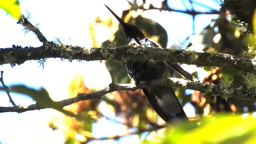
[[[106,6],[106,5],[105,5]],[[108,8],[108,6],[106,6]],[[110,8],[110,12],[116,17],[124,29],[124,34],[129,44],[136,44],[145,47],[159,47],[156,42],[150,38],[145,38],[144,34],[137,26],[128,24],[119,18]],[[170,70],[176,70],[182,76],[189,80],[194,80],[194,76],[183,70],[179,64],[169,64],[166,62],[155,62],[154,60],[126,61],[128,75],[135,82],[150,81],[154,79],[167,78],[170,76]],[[178,101],[173,89],[170,86],[154,86],[143,88],[148,102],[156,113],[166,122],[172,120],[188,120],[180,102]]]

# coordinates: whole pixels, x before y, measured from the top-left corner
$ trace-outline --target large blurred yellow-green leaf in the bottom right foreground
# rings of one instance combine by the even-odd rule
[[[254,144],[255,120],[255,113],[217,114],[212,118],[173,123],[165,130],[163,138],[150,134],[142,144]]]

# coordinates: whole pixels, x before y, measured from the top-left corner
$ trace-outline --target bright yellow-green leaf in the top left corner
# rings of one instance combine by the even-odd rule
[[[18,0],[0,0],[0,8],[17,20],[21,15],[20,3]]]

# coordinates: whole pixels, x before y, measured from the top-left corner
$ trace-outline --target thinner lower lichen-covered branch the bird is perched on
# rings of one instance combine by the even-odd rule
[[[212,94],[214,96],[222,96],[222,97],[237,96],[238,98],[243,100],[256,99],[255,88],[246,88],[245,86],[241,86],[239,88],[231,88],[231,87],[224,87],[216,84],[207,85],[199,82],[184,80],[181,78],[168,78],[168,79],[152,80],[150,82],[140,82],[137,84],[137,86],[135,86],[134,84],[110,84],[107,88],[103,90],[99,90],[97,92],[92,92],[89,94],[78,94],[78,96],[75,98],[62,100],[58,103],[64,107],[64,106],[73,104],[75,102],[80,102],[82,100],[90,100],[93,98],[100,99],[102,96],[110,92],[114,92],[118,90],[135,91],[148,86],[172,86],[172,87],[198,90],[200,92],[203,92],[206,94]],[[28,107],[22,107],[22,106],[0,107],[0,112],[25,112],[28,110],[40,110],[40,109],[43,109],[43,108],[37,106],[36,104],[32,104]]]

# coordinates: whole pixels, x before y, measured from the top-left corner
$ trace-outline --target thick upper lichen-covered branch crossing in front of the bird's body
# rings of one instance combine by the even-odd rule
[[[143,48],[119,46],[108,48],[82,48],[79,46],[62,46],[54,42],[45,42],[43,46],[33,48],[13,46],[0,49],[0,64],[22,64],[26,60],[45,58],[66,58],[68,60],[158,60],[195,64],[197,66],[219,66],[243,72],[256,73],[256,60],[242,56],[223,53],[200,53],[187,50],[171,50],[160,48]]]

